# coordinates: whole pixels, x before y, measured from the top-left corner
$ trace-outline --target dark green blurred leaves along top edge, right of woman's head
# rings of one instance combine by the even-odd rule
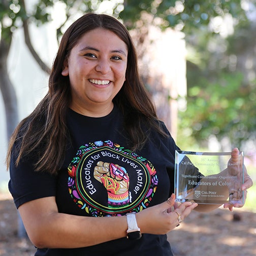
[[[239,19],[246,21],[247,17],[241,9],[240,0],[125,0],[124,10],[120,17],[133,27],[136,21],[141,19],[143,12],[150,13],[154,17],[162,19],[161,26],[174,27],[181,24],[185,33],[192,32],[193,27],[200,28],[208,25],[211,18],[224,16],[229,13]]]

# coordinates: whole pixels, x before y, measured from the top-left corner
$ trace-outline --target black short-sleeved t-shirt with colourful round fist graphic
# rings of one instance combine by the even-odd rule
[[[99,118],[72,110],[68,128],[72,144],[57,176],[35,172],[30,159],[16,168],[10,165],[9,189],[18,208],[21,204],[56,197],[59,212],[81,216],[116,216],[139,212],[164,202],[174,191],[175,150],[169,137],[151,132],[139,152],[128,148],[123,117],[115,107]],[[90,231],[88,231],[90,232]],[[76,249],[38,249],[36,255],[172,255],[166,235],[143,234]]]

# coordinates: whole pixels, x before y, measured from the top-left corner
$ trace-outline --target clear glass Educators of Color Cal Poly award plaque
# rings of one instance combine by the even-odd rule
[[[236,163],[231,152],[175,152],[175,195],[178,202],[243,204],[243,151]]]

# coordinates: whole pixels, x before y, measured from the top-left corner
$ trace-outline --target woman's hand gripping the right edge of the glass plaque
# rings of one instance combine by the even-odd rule
[[[243,207],[247,196],[247,189],[250,188],[253,184],[245,166],[243,166],[241,157],[242,156],[239,154],[238,148],[234,148],[231,153],[231,159],[228,163],[227,170],[231,176],[241,176],[241,170],[244,170],[244,183],[240,186],[240,182],[231,182],[231,186],[229,187],[230,201],[229,203],[224,204],[224,208],[229,208],[230,211],[233,210],[233,207]],[[243,200],[239,202],[237,199]]]

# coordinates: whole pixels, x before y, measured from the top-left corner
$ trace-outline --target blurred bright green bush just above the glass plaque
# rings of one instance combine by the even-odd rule
[[[243,86],[241,73],[220,73],[215,81],[202,74],[188,87],[187,109],[179,112],[180,129],[189,129],[196,141],[215,135],[233,146],[256,135],[256,93]],[[188,128],[189,127],[189,128]]]

